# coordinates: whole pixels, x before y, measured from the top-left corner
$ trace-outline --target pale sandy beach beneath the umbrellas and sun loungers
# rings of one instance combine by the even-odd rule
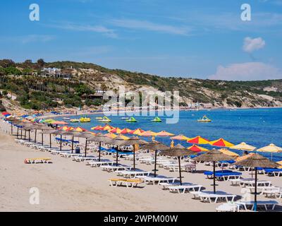
[[[111,187],[107,179],[116,178],[115,173],[20,145],[14,141],[16,136],[8,135],[10,126],[3,121],[0,129],[0,211],[215,211],[220,205],[202,203],[192,199],[192,194],[172,194],[157,185],[142,184],[142,188],[135,189]],[[48,143],[49,136],[44,136],[44,140]],[[80,138],[81,143],[83,140]],[[24,164],[27,157],[51,157],[52,163]],[[103,155],[103,158],[113,160],[111,156]],[[124,159],[120,159],[120,163],[133,164]],[[154,165],[137,162],[137,168],[152,171]],[[196,173],[183,172],[183,182],[202,184],[205,190],[212,191],[212,180],[206,179],[203,170],[212,170],[212,167],[197,164]],[[163,168],[159,168],[158,173],[178,177],[178,172]],[[242,176],[251,177],[250,172],[243,172]],[[281,177],[259,174],[259,179],[281,186]],[[231,182],[217,184],[220,191],[242,195],[242,188],[231,186]],[[30,204],[32,187],[39,189],[39,205]],[[259,200],[265,199],[259,196]],[[281,211],[281,206],[276,210]]]

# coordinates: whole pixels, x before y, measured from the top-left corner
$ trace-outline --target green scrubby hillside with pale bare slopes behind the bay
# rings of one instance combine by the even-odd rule
[[[70,73],[69,80],[32,76],[42,67]],[[13,93],[24,108],[80,107],[101,105],[101,100],[82,100],[94,90],[164,91],[179,90],[180,104],[199,102],[202,107],[282,107],[282,79],[269,81],[211,81],[192,78],[154,76],[145,73],[106,69],[90,63],[56,61],[14,63],[0,61],[0,89]]]

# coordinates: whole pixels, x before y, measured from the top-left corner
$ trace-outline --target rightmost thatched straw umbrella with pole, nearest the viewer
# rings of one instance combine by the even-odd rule
[[[264,157],[259,154],[252,155],[247,157],[245,160],[241,160],[235,162],[234,165],[242,165],[245,167],[255,167],[255,205],[254,210],[257,210],[257,167],[269,167],[269,168],[276,168],[280,165],[276,162],[269,160],[267,157]]]

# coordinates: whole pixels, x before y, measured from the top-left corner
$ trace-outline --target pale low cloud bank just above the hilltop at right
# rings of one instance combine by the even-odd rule
[[[231,64],[226,67],[218,66],[216,73],[209,76],[209,79],[226,81],[256,81],[281,78],[281,69],[262,62]]]

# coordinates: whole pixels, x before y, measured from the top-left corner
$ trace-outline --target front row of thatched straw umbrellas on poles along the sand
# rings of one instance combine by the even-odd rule
[[[18,121],[16,119],[11,121],[16,124],[17,128],[21,129],[21,132],[23,129],[25,131],[28,131],[30,133],[30,130],[35,130],[35,142],[36,142],[36,133],[37,129],[42,130],[42,145],[43,145],[43,134],[44,133],[49,133],[50,134],[50,147],[51,147],[51,134],[54,135],[60,135],[61,136],[61,142],[62,142],[62,136],[63,135],[70,135],[72,137],[78,136],[82,138],[86,138],[85,142],[85,156],[86,156],[86,150],[87,150],[87,141],[96,141],[99,142],[99,160],[101,157],[101,143],[111,143],[113,145],[118,146],[117,148],[117,153],[116,153],[116,165],[118,164],[118,149],[122,145],[133,145],[133,168],[135,169],[135,145],[141,145],[142,149],[148,149],[148,150],[153,150],[155,152],[155,166],[154,166],[154,177],[157,175],[157,169],[156,169],[156,163],[157,163],[157,150],[161,150],[162,155],[170,155],[178,158],[178,165],[179,165],[179,176],[180,176],[180,184],[182,184],[182,177],[181,177],[181,170],[180,170],[180,157],[184,155],[192,155],[192,151],[187,150],[184,148],[182,145],[178,144],[173,148],[168,148],[166,145],[163,143],[159,143],[158,141],[152,141],[151,143],[147,143],[147,141],[143,141],[137,136],[133,136],[131,138],[128,138],[127,140],[124,139],[123,135],[118,135],[116,138],[109,138],[108,136],[102,134],[102,133],[97,133],[95,136],[93,133],[90,133],[88,131],[60,131],[60,130],[53,130],[50,129],[47,126],[44,126],[42,124],[27,124],[26,122],[23,121]],[[18,132],[17,132],[18,136]],[[22,136],[22,133],[20,134]],[[30,135],[29,135],[30,136]],[[30,138],[29,138],[30,139]],[[73,138],[72,138],[73,141]],[[221,141],[219,141],[221,142]],[[246,144],[242,143],[240,144],[241,146],[246,146]],[[271,145],[273,148],[273,145]],[[240,148],[240,147],[239,147]],[[238,147],[236,149],[239,149]],[[242,148],[242,147],[241,147]],[[61,149],[61,145],[60,145]],[[72,150],[73,150],[73,145],[72,145]],[[267,148],[266,148],[267,150]],[[215,163],[218,161],[222,160],[233,160],[234,157],[231,157],[230,155],[226,155],[225,153],[222,153],[219,150],[210,150],[207,153],[204,153],[202,155],[199,155],[194,158],[196,161],[200,162],[213,162],[214,163],[214,175],[215,175]],[[254,167],[255,168],[255,210],[257,208],[257,167],[279,167],[278,163],[272,162],[271,160],[267,159],[266,157],[263,157],[262,155],[259,154],[253,154],[250,155],[249,157],[239,160],[238,162],[235,162],[236,165],[241,165],[245,167]],[[216,192],[216,184],[215,184],[215,177],[214,177],[214,192]]]

